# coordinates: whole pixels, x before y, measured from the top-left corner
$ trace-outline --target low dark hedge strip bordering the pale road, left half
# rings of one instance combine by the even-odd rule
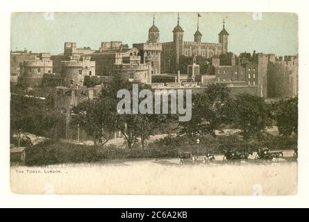
[[[49,165],[78,162],[100,162],[130,158],[177,157],[176,149],[115,148],[115,146],[87,146],[49,140],[26,148],[26,165]]]

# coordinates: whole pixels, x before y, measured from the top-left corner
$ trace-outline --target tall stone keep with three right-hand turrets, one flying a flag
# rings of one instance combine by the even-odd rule
[[[225,29],[224,23],[222,31],[218,34],[218,43],[202,42],[199,24],[196,33],[194,33],[194,41],[185,42],[183,40],[183,33],[185,31],[183,31],[183,28],[181,28],[179,24],[178,16],[177,26],[173,30],[173,42],[162,43],[161,72],[176,72],[179,56],[203,56],[205,58],[210,58],[212,56],[219,56],[222,53],[227,53],[229,34]]]

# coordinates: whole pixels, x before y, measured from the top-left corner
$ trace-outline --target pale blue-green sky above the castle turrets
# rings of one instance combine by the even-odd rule
[[[199,12],[199,31],[203,42],[218,42],[222,21],[226,20],[228,51],[235,54],[256,50],[278,56],[298,53],[298,21],[292,13],[263,13],[262,20],[254,20],[252,13]],[[160,42],[172,42],[172,30],[177,13],[155,12]],[[99,49],[101,42],[146,42],[152,25],[151,12],[69,12],[55,13],[53,19],[44,13],[15,13],[11,23],[11,49],[33,52],[62,53],[64,42]],[[197,30],[197,13],[181,12],[180,24],[184,40],[193,41]]]

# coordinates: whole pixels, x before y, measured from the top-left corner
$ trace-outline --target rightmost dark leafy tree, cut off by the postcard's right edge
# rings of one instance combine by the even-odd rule
[[[274,105],[274,119],[280,135],[298,133],[298,97]]]

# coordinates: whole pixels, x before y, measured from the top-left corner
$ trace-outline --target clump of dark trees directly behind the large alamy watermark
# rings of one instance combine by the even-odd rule
[[[149,85],[137,84],[140,90],[152,90]],[[75,118],[72,124],[79,124],[92,137],[94,145],[106,144],[111,133],[120,131],[128,148],[133,147],[138,138],[144,148],[144,142],[155,130],[164,132],[176,117],[172,114],[117,114],[117,103],[120,100],[117,98],[118,90],[128,89],[133,101],[132,86],[132,83],[115,79],[101,90],[97,99],[85,101],[73,108]],[[139,99],[140,101],[142,99]]]

